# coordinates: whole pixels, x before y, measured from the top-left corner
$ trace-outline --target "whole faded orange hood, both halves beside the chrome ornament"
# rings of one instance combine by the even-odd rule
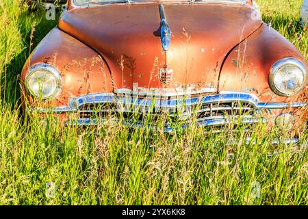
[[[162,49],[157,3],[113,4],[64,12],[62,31],[98,51],[114,88],[216,88],[222,62],[235,45],[261,26],[242,4],[165,3],[170,47]],[[160,81],[167,67],[170,82]]]

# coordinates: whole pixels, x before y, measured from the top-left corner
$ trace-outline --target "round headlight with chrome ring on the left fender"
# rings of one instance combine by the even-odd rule
[[[54,98],[61,91],[60,72],[49,64],[36,64],[30,68],[25,85],[34,96],[42,99]]]

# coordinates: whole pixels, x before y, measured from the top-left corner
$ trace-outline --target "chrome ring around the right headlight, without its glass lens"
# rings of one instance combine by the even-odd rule
[[[300,71],[303,73],[303,83],[302,83],[302,85],[300,87],[296,88],[292,94],[283,92],[283,90],[280,90],[279,88],[277,88],[277,86],[274,83],[274,77],[275,77],[275,74],[277,73],[277,70],[279,70],[281,67],[283,67],[285,65],[294,65],[297,68],[299,68]],[[279,96],[294,96],[295,94],[298,94],[299,92],[301,92],[306,86],[307,69],[306,69],[305,65],[302,62],[300,62],[299,60],[297,60],[296,58],[285,57],[285,58],[279,60],[278,62],[276,62],[272,66],[272,68],[270,68],[270,75],[269,75],[268,81],[269,81],[270,88],[272,89],[272,91],[275,94],[277,94]]]

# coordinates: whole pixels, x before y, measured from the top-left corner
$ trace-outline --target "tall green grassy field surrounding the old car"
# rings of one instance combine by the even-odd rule
[[[308,34],[296,24],[301,1],[257,3],[264,21],[308,59]],[[308,204],[307,132],[298,145],[272,147],[281,133],[261,125],[250,133],[257,144],[246,145],[241,126],[166,135],[112,123],[80,130],[23,120],[19,74],[56,23],[19,0],[0,0],[1,205]]]

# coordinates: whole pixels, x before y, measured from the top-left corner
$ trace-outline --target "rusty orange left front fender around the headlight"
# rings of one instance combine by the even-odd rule
[[[21,75],[25,80],[31,66],[53,64],[62,75],[62,92],[47,105],[68,105],[68,99],[89,92],[112,92],[110,71],[101,56],[57,27],[38,44]],[[27,95],[29,101],[33,101]]]

